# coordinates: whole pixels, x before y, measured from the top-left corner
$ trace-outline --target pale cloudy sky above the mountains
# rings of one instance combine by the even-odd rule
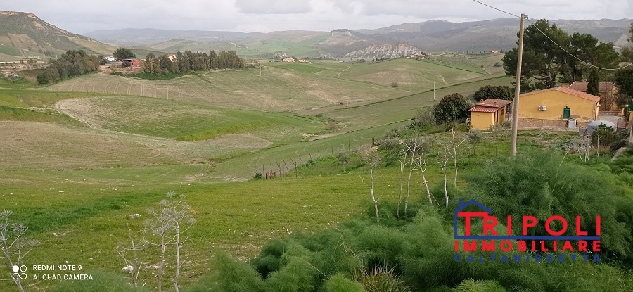
[[[632,0],[480,0],[532,19],[633,17]],[[425,20],[511,17],[473,0],[10,0],[0,10],[35,13],[75,33],[117,28],[271,32],[378,28]]]

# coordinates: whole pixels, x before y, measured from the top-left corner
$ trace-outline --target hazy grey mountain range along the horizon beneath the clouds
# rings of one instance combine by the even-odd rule
[[[563,30],[594,35],[616,46],[627,43],[632,20],[550,20]],[[101,42],[143,46],[157,51],[235,50],[247,58],[297,57],[383,58],[411,51],[500,51],[516,46],[518,19],[451,23],[404,23],[375,30],[269,33],[207,32],[200,30],[125,29],[89,32]],[[527,25],[530,25],[528,22]],[[281,53],[281,54],[280,54]]]

